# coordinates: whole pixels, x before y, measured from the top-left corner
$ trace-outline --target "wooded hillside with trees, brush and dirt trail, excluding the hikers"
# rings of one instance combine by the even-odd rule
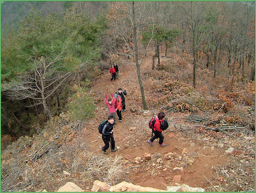
[[[32,8],[1,36],[1,192],[68,181],[90,192],[94,180],[254,192],[254,2],[93,7]],[[113,129],[117,151],[105,155],[98,126],[118,88],[127,111]],[[147,143],[159,111],[165,147]]]

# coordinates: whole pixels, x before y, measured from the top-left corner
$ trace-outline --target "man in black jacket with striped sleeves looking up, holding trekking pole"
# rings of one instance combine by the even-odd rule
[[[109,148],[109,142],[110,142],[111,151],[116,151],[113,127],[114,127],[113,116],[108,116],[108,122],[104,125],[102,130],[102,140],[105,144],[102,147],[102,151],[104,154],[107,154],[106,150]]]

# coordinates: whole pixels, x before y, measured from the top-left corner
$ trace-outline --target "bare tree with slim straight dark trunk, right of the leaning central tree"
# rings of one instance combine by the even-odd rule
[[[200,61],[198,51],[201,44],[205,41],[213,29],[210,27],[211,19],[215,17],[214,6],[211,2],[203,1],[177,1],[173,2],[176,7],[173,12],[173,18],[177,24],[185,28],[186,44],[179,44],[182,50],[190,54],[190,60],[193,64],[193,87],[196,86],[196,66]]]

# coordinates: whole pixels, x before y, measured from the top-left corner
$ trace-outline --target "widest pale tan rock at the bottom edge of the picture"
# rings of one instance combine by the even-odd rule
[[[131,183],[127,183],[126,181],[122,181],[120,184],[116,186],[112,186],[109,189],[110,192],[167,192],[165,190],[160,190],[156,188],[150,187],[141,187],[138,185],[133,185]]]

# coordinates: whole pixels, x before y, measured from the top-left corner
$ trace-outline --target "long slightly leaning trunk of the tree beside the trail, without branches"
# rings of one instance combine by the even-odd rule
[[[134,36],[134,47],[135,47],[135,63],[137,68],[137,76],[138,76],[138,82],[141,87],[141,97],[142,97],[142,104],[144,109],[148,109],[146,98],[145,98],[145,92],[143,83],[141,80],[141,72],[140,72],[140,64],[138,63],[138,45],[137,45],[137,33],[136,33],[136,24],[135,24],[135,10],[134,10],[134,1],[132,1],[132,23],[133,23],[133,36]]]

